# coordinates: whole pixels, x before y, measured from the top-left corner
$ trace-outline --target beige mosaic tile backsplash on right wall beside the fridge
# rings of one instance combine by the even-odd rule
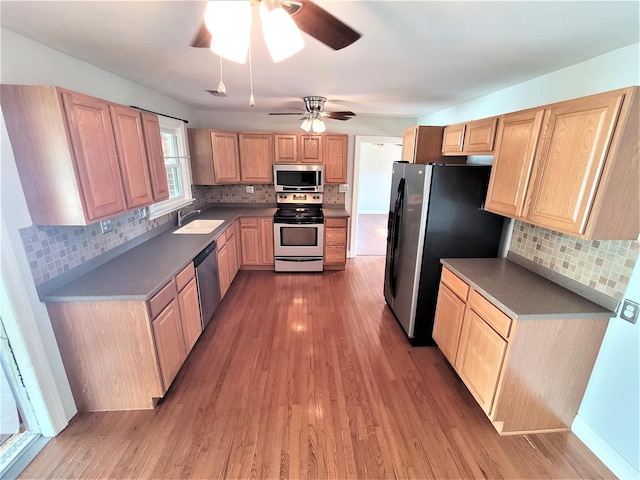
[[[624,297],[640,242],[581,240],[515,223],[509,251],[616,300]]]

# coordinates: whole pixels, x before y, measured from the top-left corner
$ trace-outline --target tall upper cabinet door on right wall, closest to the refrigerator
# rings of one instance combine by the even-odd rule
[[[505,115],[498,122],[496,151],[485,208],[506,217],[522,216],[544,110]]]

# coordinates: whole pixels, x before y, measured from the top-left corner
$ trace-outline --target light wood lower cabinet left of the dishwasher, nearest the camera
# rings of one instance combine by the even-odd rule
[[[200,336],[193,264],[149,301],[48,303],[79,411],[151,409]]]

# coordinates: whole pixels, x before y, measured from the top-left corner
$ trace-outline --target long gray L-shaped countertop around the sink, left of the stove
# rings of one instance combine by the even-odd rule
[[[238,217],[273,217],[275,208],[213,207],[195,218],[225,220],[210,234],[179,234],[172,227],[47,293],[44,302],[148,300]],[[193,219],[193,217],[192,217]]]

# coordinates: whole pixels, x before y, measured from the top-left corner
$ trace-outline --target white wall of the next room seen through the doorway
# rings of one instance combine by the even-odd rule
[[[381,145],[382,147],[377,147]],[[394,143],[364,143],[358,159],[358,213],[389,213],[391,168],[402,147]]]

